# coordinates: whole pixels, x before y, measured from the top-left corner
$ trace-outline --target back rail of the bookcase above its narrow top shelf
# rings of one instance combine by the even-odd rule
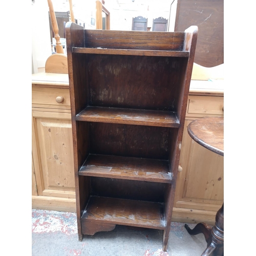
[[[184,51],[186,32],[83,30],[83,48]],[[186,53],[187,54],[187,53]]]

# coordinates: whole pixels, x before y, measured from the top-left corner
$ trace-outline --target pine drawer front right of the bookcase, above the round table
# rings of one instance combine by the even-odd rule
[[[223,116],[224,97],[188,96],[188,117]]]

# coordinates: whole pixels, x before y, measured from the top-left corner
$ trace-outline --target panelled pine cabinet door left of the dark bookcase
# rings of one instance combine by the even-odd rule
[[[71,114],[32,111],[32,136],[38,196],[75,198]]]

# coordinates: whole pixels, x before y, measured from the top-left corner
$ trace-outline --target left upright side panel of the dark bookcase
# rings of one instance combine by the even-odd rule
[[[87,106],[87,87],[84,87],[86,73],[84,70],[84,62],[82,56],[74,56],[72,54],[73,47],[84,47],[84,28],[68,22],[66,24],[67,38],[67,57],[69,71],[69,86],[71,99],[71,114],[72,114],[72,136],[74,149],[74,172],[75,172],[75,187],[76,187],[76,214],[78,237],[82,239],[81,214],[87,205],[90,196],[90,180],[88,177],[78,177],[78,170],[81,167],[84,159],[89,154],[88,131],[86,123],[76,123],[75,115],[82,111]]]

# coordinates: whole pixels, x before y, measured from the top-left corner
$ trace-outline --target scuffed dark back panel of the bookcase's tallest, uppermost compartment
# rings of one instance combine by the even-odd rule
[[[89,105],[176,111],[185,60],[87,54]]]

